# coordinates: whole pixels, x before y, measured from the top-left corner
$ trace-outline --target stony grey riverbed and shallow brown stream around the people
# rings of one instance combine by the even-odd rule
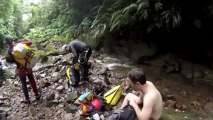
[[[34,67],[34,75],[42,96],[41,100],[36,101],[31,87],[28,85],[32,101],[30,105],[21,102],[24,97],[18,77],[11,76],[4,81],[0,87],[0,119],[85,119],[79,116],[77,112],[79,105],[74,104],[74,101],[82,93],[97,86],[105,86],[105,90],[109,90],[111,86],[120,84],[125,80],[126,72],[133,67],[120,63],[118,59],[113,59],[114,63],[109,64],[107,55],[94,52],[90,60],[92,66],[89,84],[70,88],[65,75],[67,65],[71,61],[70,57],[70,55],[48,56],[46,63],[38,63]],[[195,70],[202,68],[201,72],[196,73],[195,70],[187,69],[190,68],[187,65],[191,65],[188,63],[181,64],[182,69],[179,70],[176,64],[178,63],[163,56],[142,66],[147,73],[148,80],[153,81],[162,93],[165,106],[162,119],[212,120],[212,87],[207,87],[199,82],[200,79],[212,80],[212,71],[199,66],[193,67]],[[110,85],[107,85],[107,82],[110,82]],[[120,107],[121,102],[122,99],[113,109]],[[109,111],[105,111],[103,115],[107,117]]]

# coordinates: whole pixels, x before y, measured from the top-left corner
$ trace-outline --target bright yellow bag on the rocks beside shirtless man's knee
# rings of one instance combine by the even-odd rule
[[[110,105],[116,105],[123,92],[122,85],[113,87],[107,93],[104,94],[104,99]]]

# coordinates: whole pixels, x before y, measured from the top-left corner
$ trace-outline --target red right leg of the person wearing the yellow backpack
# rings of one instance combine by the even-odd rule
[[[37,85],[36,85],[33,73],[27,74],[27,77],[29,79],[29,82],[30,82],[30,85],[31,85],[31,87],[33,89],[33,92],[34,92],[34,94],[36,96],[36,99],[39,100],[40,99],[40,95],[38,94],[38,89],[37,89]]]

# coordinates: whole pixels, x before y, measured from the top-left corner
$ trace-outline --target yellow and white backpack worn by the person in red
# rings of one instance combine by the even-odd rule
[[[29,46],[22,43],[18,43],[13,47],[12,55],[21,66],[27,69],[33,68],[38,61],[35,57],[35,52]]]

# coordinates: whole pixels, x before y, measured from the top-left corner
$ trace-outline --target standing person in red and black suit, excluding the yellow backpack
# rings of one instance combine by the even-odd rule
[[[35,93],[36,100],[39,100],[40,95],[38,93],[38,89],[37,89],[36,82],[35,82],[35,79],[34,79],[34,76],[33,76],[32,68],[27,69],[26,66],[22,66],[18,61],[15,60],[12,52],[13,52],[13,47],[16,46],[17,43],[13,40],[12,37],[10,37],[10,36],[5,37],[5,42],[9,46],[6,61],[9,62],[9,63],[15,63],[17,65],[16,73],[18,74],[20,81],[21,81],[21,84],[22,84],[22,90],[23,90],[25,100],[26,100],[24,102],[27,103],[27,104],[30,104],[30,98],[29,98],[28,89],[27,89],[26,76],[28,77],[29,82],[30,82],[31,87],[32,87],[32,90]],[[31,46],[32,42],[25,41],[22,44],[26,44],[27,46]]]

